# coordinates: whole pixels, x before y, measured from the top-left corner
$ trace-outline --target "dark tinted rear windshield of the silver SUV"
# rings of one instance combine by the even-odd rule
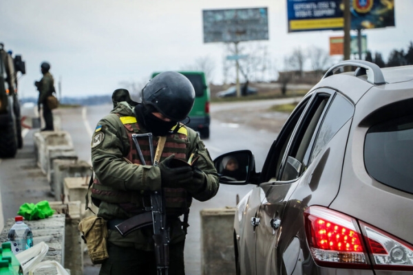
[[[364,144],[368,173],[383,184],[413,194],[413,115],[372,126]]]

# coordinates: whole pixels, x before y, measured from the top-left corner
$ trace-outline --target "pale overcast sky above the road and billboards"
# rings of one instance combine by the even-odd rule
[[[223,81],[223,43],[203,43],[202,10],[268,8],[268,49],[273,70],[300,47],[329,50],[329,37],[341,31],[288,33],[287,0],[1,0],[0,41],[21,54],[26,74],[23,97],[36,97],[34,80],[42,61],[61,81],[63,96],[112,94],[120,83],[145,83],[151,73],[179,70],[208,57],[212,82]],[[396,27],[363,31],[368,49],[387,61],[413,41],[412,0],[394,0]],[[257,43],[257,42],[255,42]],[[242,43],[240,43],[242,44]],[[231,79],[230,79],[231,80]],[[233,80],[234,81],[234,80]]]

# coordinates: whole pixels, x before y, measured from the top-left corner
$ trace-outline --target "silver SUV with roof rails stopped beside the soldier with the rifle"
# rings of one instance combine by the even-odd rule
[[[235,213],[237,274],[413,274],[413,66],[343,61],[262,172],[251,151],[214,162],[222,184],[256,185]]]

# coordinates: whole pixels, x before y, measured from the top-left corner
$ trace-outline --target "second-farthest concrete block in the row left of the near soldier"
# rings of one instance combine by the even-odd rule
[[[47,168],[45,170],[45,175],[47,175],[47,181],[49,183],[53,179],[54,167],[53,167],[53,160],[54,159],[72,159],[74,161],[78,160],[78,155],[76,151],[74,151],[73,146],[70,145],[53,145],[47,146],[46,148],[46,161]]]

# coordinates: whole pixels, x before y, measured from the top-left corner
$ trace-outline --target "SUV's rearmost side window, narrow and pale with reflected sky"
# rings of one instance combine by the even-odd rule
[[[304,165],[308,166],[313,159],[317,157],[318,153],[324,146],[334,137],[334,135],[346,124],[346,122],[352,118],[354,113],[354,105],[341,94],[336,94],[332,100],[330,107],[324,120],[320,126],[317,138],[314,142],[313,151],[307,150],[304,156]],[[311,155],[310,161],[308,161],[309,155]]]

